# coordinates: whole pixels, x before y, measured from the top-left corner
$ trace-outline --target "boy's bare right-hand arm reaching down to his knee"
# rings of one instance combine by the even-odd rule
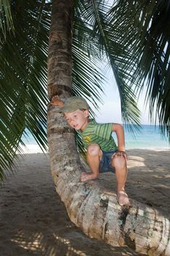
[[[122,152],[123,157],[128,160],[128,155],[125,153],[125,135],[122,124],[112,124],[112,132],[117,135],[118,152]]]

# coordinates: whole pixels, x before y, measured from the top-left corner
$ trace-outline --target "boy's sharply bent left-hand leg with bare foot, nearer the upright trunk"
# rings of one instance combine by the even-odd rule
[[[88,181],[95,179],[99,175],[100,159],[102,157],[101,148],[98,144],[91,144],[87,150],[87,161],[90,167],[91,173],[82,173],[81,181]]]

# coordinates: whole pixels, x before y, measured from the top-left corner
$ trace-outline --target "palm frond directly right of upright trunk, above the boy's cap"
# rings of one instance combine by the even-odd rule
[[[77,29],[74,29],[72,42],[73,93],[87,98],[98,108],[96,100],[101,101],[101,93],[103,93],[101,85],[104,81],[104,75],[102,75],[100,68],[97,66],[98,58],[93,57],[92,59],[88,54],[88,47],[91,50],[93,45],[88,42],[89,29],[85,26],[83,29],[83,26],[82,20],[75,17],[74,28]],[[82,45],[81,42],[83,42]]]

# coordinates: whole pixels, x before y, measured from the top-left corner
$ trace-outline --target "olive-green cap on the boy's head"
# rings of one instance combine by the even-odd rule
[[[74,112],[78,109],[88,109],[88,102],[82,97],[73,96],[66,99],[60,112]]]

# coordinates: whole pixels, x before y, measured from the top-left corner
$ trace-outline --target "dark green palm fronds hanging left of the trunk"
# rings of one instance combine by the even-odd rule
[[[22,12],[20,2],[15,1],[12,8],[15,10],[15,34],[7,32],[0,55],[0,99],[4,113],[1,116],[4,127],[1,130],[1,170],[11,166],[19,143],[24,144],[22,135],[26,128],[39,146],[47,149],[45,106],[50,9],[45,1],[27,1]],[[1,173],[2,177],[3,171]]]

